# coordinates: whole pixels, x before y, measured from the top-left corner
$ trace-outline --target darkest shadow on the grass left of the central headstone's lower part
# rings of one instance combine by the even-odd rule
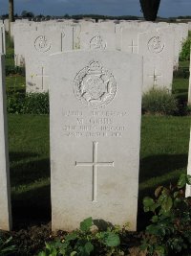
[[[51,221],[51,186],[14,195],[11,207],[14,230]]]

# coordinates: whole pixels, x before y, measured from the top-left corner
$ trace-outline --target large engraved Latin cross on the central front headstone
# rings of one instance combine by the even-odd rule
[[[93,161],[92,162],[75,162],[75,166],[93,167],[93,201],[96,202],[96,169],[97,167],[114,167],[114,162],[98,162],[97,161],[97,145],[93,142]]]

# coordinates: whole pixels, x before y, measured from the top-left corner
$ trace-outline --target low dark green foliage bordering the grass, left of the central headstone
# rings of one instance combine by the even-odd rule
[[[10,92],[7,108],[11,114],[49,114],[49,93]]]

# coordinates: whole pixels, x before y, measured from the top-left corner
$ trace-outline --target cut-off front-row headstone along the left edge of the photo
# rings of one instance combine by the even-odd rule
[[[10,167],[7,138],[5,63],[0,55],[0,229],[11,229]]]

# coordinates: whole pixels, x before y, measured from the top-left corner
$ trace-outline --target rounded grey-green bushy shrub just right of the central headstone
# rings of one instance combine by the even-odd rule
[[[152,88],[143,94],[142,111],[143,113],[172,115],[178,111],[178,101],[167,89]]]

